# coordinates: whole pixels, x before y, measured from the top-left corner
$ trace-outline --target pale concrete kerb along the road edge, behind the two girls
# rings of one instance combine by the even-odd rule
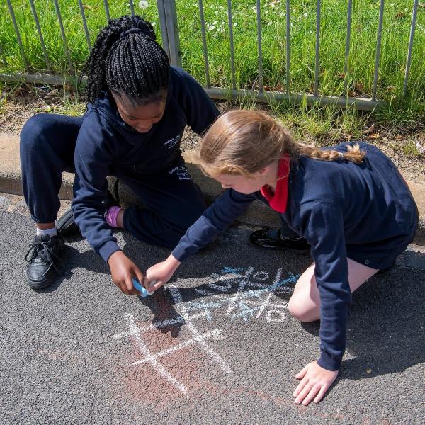
[[[13,134],[0,134],[0,192],[22,195],[21,164],[19,162],[19,137]],[[216,181],[204,176],[193,159],[192,152],[184,152],[183,157],[193,181],[198,184],[205,195],[207,203],[217,197],[222,188]],[[72,183],[74,175],[62,174],[62,188],[60,198],[72,200]],[[414,242],[425,245],[425,186],[408,181],[416,204],[419,209],[419,228],[416,232]],[[115,197],[118,197],[121,205],[140,205],[140,200],[130,189],[114,178],[108,179],[108,186]],[[238,222],[250,226],[261,227],[264,225],[278,227],[280,220],[278,215],[263,203],[256,201],[244,215],[238,218]]]

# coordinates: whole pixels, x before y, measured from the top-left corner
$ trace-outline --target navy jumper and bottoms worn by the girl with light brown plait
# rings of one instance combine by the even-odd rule
[[[346,143],[331,149],[346,152]],[[346,346],[351,304],[347,257],[371,268],[388,268],[412,241],[418,212],[395,165],[376,147],[362,164],[301,157],[291,164],[288,205],[281,216],[307,239],[320,295],[319,365],[338,370]],[[173,251],[183,261],[206,246],[249,204],[266,202],[260,192],[223,192],[193,224]]]

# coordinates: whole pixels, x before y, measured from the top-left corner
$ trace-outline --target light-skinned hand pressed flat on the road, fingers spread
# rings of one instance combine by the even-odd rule
[[[295,378],[301,380],[294,392],[295,404],[302,402],[307,406],[313,399],[314,403],[318,403],[326,394],[336,376],[338,376],[338,370],[324,369],[317,364],[317,361],[308,363],[295,376]]]

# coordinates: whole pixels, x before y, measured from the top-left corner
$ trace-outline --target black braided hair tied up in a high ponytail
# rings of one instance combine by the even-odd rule
[[[170,63],[155,39],[152,24],[140,16],[111,19],[96,38],[81,72],[88,76],[89,101],[94,102],[101,91],[113,92],[132,106],[164,99]]]

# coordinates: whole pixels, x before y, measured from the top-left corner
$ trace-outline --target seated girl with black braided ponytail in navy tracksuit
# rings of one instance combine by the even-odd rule
[[[37,231],[26,256],[28,284],[40,289],[55,281],[64,251],[57,227],[75,220],[115,285],[138,294],[132,278],[143,282],[143,273],[120,250],[111,227],[149,244],[179,241],[205,209],[181,156],[181,136],[186,124],[203,133],[219,112],[193,77],[170,67],[152,25],[139,16],[109,21],[83,72],[84,117],[42,113],[21,132],[23,192]],[[74,200],[56,227],[62,171],[75,173]],[[111,205],[107,176],[126,183],[145,208]]]

